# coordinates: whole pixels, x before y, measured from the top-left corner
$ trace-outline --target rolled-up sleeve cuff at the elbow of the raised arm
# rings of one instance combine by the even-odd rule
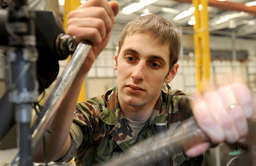
[[[82,143],[83,134],[78,124],[72,123],[69,135],[71,136],[71,146],[69,147],[65,156],[55,161],[57,163],[70,162],[70,160],[75,156],[77,150],[79,149],[79,146]]]

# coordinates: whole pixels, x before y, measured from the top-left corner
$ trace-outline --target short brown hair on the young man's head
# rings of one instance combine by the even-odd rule
[[[169,43],[171,70],[172,66],[177,63],[181,47],[181,37],[177,26],[160,15],[148,14],[139,16],[136,19],[131,20],[124,27],[119,38],[119,50],[123,46],[125,37],[137,32],[149,32],[154,35],[155,38],[158,38],[160,43]]]

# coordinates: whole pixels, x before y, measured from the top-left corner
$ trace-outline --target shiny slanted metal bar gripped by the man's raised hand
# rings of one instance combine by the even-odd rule
[[[87,57],[90,48],[91,46],[88,44],[79,43],[72,58],[67,63],[63,74],[55,85],[55,89],[50,94],[49,99],[44,106],[44,109],[42,111],[44,117],[38,117],[38,123],[35,123],[36,129],[33,128],[32,152],[34,152],[36,147],[38,146],[38,143],[43,137],[51,117],[53,117],[57,108],[60,106],[61,100],[63,100],[63,96],[67,93],[67,89],[69,89],[71,83],[73,83],[73,79],[79,72],[80,66],[82,66],[82,64],[84,63],[84,60]]]

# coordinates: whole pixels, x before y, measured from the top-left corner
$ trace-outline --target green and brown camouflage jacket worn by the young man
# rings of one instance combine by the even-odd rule
[[[137,140],[134,140],[131,128],[120,111],[117,89],[109,89],[106,94],[77,105],[71,129],[73,145],[60,161],[68,161],[74,156],[79,166],[106,162],[137,142],[155,135],[156,123],[166,123],[166,126],[170,126],[191,116],[188,98],[181,91],[171,92],[169,86],[164,86],[152,116],[137,136]],[[189,159],[181,152],[175,155],[173,163],[200,165],[202,159],[203,157]]]

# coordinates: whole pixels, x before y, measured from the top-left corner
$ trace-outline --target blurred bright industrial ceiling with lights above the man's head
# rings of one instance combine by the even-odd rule
[[[29,0],[33,7],[42,6],[44,0]],[[59,0],[60,1],[60,0]],[[63,1],[63,0],[62,0]],[[122,29],[130,20],[145,13],[160,14],[183,28],[183,33],[193,33],[192,0],[116,0],[120,10],[114,28]],[[152,2],[154,3],[152,3]],[[37,3],[38,2],[38,3]],[[49,2],[49,1],[48,1]],[[148,4],[151,2],[150,4]],[[256,6],[247,3],[255,0],[208,0],[208,19],[211,35],[236,34],[236,37],[256,38]],[[125,13],[125,7],[132,3],[144,3],[141,9]],[[255,4],[254,4],[255,5]],[[40,7],[41,8],[41,7]],[[190,24],[190,25],[189,25]]]

